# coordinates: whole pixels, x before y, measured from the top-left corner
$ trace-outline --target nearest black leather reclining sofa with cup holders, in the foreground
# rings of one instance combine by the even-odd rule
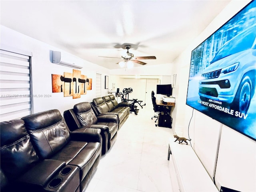
[[[1,192],[83,192],[101,157],[101,130],[67,128],[58,110],[0,123]]]

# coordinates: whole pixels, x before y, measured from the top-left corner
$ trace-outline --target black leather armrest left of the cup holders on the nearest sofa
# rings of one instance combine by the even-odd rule
[[[45,159],[17,179],[17,182],[30,191],[42,190],[42,188],[66,166],[66,162],[53,159]],[[33,190],[32,190],[33,189]]]

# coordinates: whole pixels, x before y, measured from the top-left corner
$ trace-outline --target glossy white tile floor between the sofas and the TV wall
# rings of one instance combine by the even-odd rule
[[[138,115],[130,114],[86,192],[172,191],[167,160],[172,129],[156,127],[153,115],[152,105],[140,108]]]

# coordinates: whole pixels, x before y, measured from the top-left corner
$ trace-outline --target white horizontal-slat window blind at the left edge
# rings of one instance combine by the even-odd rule
[[[0,50],[0,121],[31,114],[30,56]]]

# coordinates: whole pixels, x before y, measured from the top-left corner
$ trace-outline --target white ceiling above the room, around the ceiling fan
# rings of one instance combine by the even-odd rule
[[[1,25],[109,69],[132,44],[147,65],[171,63],[229,0],[1,0]],[[134,66],[141,66],[135,64]]]

